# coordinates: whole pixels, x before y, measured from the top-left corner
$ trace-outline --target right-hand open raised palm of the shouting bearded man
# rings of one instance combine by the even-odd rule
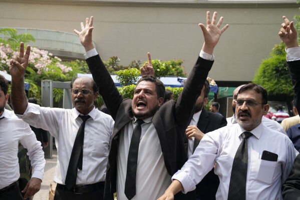
[[[226,29],[229,27],[229,25],[226,24],[222,29],[220,29],[224,18],[220,17],[218,22],[216,21],[216,19],[217,12],[213,13],[212,20],[210,20],[210,12],[207,11],[206,27],[203,24],[199,24],[199,27],[201,27],[204,36],[204,44],[202,47],[202,51],[211,55],[222,33],[226,31]]]

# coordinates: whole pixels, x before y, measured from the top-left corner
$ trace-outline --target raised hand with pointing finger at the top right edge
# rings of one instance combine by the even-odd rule
[[[297,31],[293,25],[293,22],[283,16],[284,23],[281,24],[280,31],[278,33],[279,38],[285,44],[286,48],[298,47]]]

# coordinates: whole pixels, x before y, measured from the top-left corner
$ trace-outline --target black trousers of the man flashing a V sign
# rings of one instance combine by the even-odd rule
[[[54,200],[103,200],[103,195],[104,188],[97,191],[91,191],[82,194],[75,194],[73,191],[56,188]]]

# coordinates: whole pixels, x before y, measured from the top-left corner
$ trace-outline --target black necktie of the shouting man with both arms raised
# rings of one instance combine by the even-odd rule
[[[140,137],[142,132],[141,124],[143,124],[144,121],[137,119],[136,122],[138,124],[135,126],[133,130],[131,142],[129,146],[125,190],[124,190],[124,193],[129,200],[132,199],[136,193],[136,167],[138,162]]]

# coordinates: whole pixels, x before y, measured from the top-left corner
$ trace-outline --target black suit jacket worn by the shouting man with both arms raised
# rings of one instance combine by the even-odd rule
[[[134,118],[131,108],[132,100],[122,98],[99,55],[87,59],[87,64],[97,84],[99,93],[103,97],[112,118],[115,120],[110,143],[104,195],[105,199],[112,199],[113,193],[116,192],[119,134],[121,134],[121,130],[125,125]],[[178,98],[177,102],[172,100],[163,104],[152,118],[160,141],[164,164],[170,175],[173,175],[180,169],[187,160],[183,142],[184,132],[191,121],[191,113],[193,113],[196,99],[201,93],[212,64],[213,61],[207,61],[198,57],[187,79],[186,87],[182,91],[182,96]],[[175,195],[175,199],[194,198],[194,192],[188,192],[185,195],[179,192]]]

